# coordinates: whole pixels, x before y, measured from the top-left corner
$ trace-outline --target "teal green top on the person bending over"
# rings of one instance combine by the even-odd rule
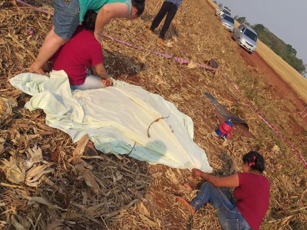
[[[79,20],[84,20],[84,15],[87,10],[94,10],[96,13],[108,3],[125,3],[129,7],[129,13],[131,12],[131,0],[79,0],[80,16]]]

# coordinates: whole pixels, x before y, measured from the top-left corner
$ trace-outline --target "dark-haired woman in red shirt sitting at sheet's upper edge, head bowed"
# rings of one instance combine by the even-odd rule
[[[103,66],[101,44],[94,37],[97,13],[88,10],[73,37],[54,55],[52,70],[63,70],[72,89],[95,89],[111,86],[112,80]],[[87,74],[95,70],[98,76]]]

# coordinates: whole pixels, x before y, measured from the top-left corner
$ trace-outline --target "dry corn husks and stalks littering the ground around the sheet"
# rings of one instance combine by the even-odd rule
[[[29,2],[41,6],[38,1]],[[12,120],[7,117],[2,127],[0,154],[20,172],[15,167],[17,176],[12,177],[13,171],[8,173],[9,167],[4,168],[2,163],[0,226],[5,229],[220,228],[212,206],[205,205],[191,218],[176,202],[177,194],[188,199],[193,196],[184,190],[182,182],[193,187],[201,182],[188,170],[150,166],[128,156],[79,157],[82,143],[76,146],[67,134],[46,126],[43,111],[30,112],[23,108],[30,96],[15,90],[8,80],[25,72],[33,61],[52,25],[52,17],[17,7],[12,2],[2,3],[0,92],[1,96],[16,99],[18,105],[12,108]],[[52,9],[50,2],[44,4],[46,9]],[[305,169],[289,146],[247,106],[250,100],[306,157],[307,127],[300,127],[299,117],[287,110],[290,102],[279,98],[256,68],[243,64],[236,44],[223,35],[225,30],[203,0],[183,2],[166,35],[168,47],[161,47],[157,35],[148,33],[150,21],[162,0],[146,1],[146,4],[141,19],[114,20],[105,28],[105,33],[200,63],[214,58],[246,98],[237,95],[218,72],[190,69],[103,39],[109,74],[122,76],[127,82],[163,96],[190,116],[195,126],[194,141],[206,151],[216,175],[239,171],[244,153],[260,151],[266,159],[265,175],[271,182],[270,208],[262,229],[304,229],[307,224]],[[29,34],[30,29],[33,35]],[[202,96],[203,91],[239,113],[248,122],[255,139],[244,135],[234,135],[232,140],[217,139],[212,132],[218,119],[213,106]],[[302,131],[293,134],[298,129]],[[37,156],[40,156],[40,148],[42,159],[31,157],[30,148]],[[30,159],[35,163],[25,168],[23,163]],[[38,169],[45,166],[44,173],[39,174]],[[30,177],[31,169],[32,175],[36,169],[37,178]],[[33,186],[30,182],[38,183]]]

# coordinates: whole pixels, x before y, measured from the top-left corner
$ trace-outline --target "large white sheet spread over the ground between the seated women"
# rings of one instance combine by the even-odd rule
[[[114,81],[104,89],[71,91],[63,71],[51,77],[19,74],[10,83],[32,95],[25,107],[43,109],[46,124],[77,142],[87,133],[96,149],[127,154],[150,164],[211,172],[205,151],[193,142],[193,122],[172,103],[140,86]],[[169,117],[168,117],[169,116]],[[149,125],[158,118],[149,128]]]

